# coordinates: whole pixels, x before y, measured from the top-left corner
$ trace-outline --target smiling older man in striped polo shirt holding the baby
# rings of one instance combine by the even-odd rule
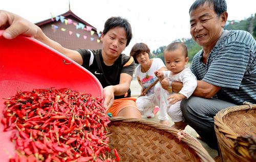
[[[188,124],[217,150],[215,114],[229,106],[256,103],[256,42],[246,31],[223,29],[226,11],[226,2],[220,0],[197,0],[189,9],[190,34],[202,50],[191,64],[198,86],[181,103]],[[179,92],[181,83],[173,82],[172,88]]]

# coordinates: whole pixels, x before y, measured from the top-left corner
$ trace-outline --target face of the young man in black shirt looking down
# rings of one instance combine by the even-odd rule
[[[121,27],[112,28],[105,35],[102,35],[100,39],[103,44],[102,55],[108,59],[119,57],[126,47],[126,32]]]

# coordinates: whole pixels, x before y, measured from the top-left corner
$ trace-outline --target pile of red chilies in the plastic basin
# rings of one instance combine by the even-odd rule
[[[5,102],[4,131],[13,131],[10,161],[119,161],[110,156],[109,117],[101,98],[67,88],[18,91]]]

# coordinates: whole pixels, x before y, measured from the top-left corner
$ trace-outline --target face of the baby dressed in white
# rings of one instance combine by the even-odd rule
[[[177,49],[175,51],[165,51],[164,61],[168,71],[171,71],[173,74],[178,74],[184,70],[188,62],[188,57],[185,57],[182,49]]]

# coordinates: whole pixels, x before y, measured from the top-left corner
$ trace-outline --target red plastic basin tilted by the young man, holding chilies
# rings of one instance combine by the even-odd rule
[[[4,98],[17,90],[34,88],[71,88],[84,91],[93,97],[102,97],[102,86],[88,70],[62,55],[48,45],[29,37],[18,36],[8,40],[0,31],[0,120]],[[0,123],[0,161],[8,161],[14,155],[11,132],[3,132]]]

